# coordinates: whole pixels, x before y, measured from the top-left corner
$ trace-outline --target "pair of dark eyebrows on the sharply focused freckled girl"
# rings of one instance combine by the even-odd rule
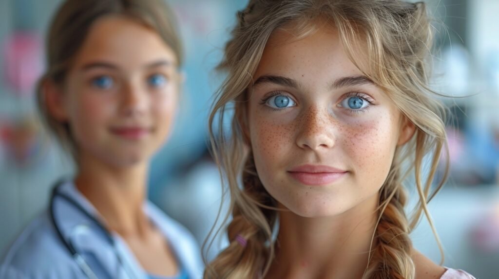
[[[253,87],[256,87],[257,85],[262,83],[272,83],[276,85],[291,87],[294,89],[297,89],[299,87],[298,83],[293,79],[282,76],[273,76],[273,75],[264,75],[259,77],[253,83]],[[349,76],[349,77],[339,78],[332,83],[331,88],[339,89],[343,87],[359,86],[364,84],[376,85],[370,78],[364,75],[359,75],[359,76]]]

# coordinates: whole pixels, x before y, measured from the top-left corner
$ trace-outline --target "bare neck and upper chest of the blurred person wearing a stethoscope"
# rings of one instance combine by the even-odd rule
[[[147,164],[113,168],[100,160],[80,157],[77,189],[92,203],[110,231],[122,236],[145,234],[149,221],[143,211]]]

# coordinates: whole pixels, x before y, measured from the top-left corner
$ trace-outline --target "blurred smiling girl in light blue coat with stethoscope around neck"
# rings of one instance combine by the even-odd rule
[[[175,24],[160,0],[61,5],[37,93],[77,173],[7,250],[1,279],[202,276],[192,235],[146,200],[182,82]]]

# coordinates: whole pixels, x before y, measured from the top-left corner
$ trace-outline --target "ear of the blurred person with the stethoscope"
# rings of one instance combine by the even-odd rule
[[[46,80],[42,84],[41,94],[47,106],[48,114],[57,121],[67,121],[67,110],[60,86],[56,85],[53,81]]]

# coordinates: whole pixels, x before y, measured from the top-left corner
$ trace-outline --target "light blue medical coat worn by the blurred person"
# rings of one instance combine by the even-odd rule
[[[73,183],[65,183],[58,190],[70,196],[90,214],[97,216],[96,209],[78,192]],[[168,240],[184,275],[188,278],[202,278],[204,267],[201,250],[191,233],[149,201],[144,205],[144,210]],[[32,221],[6,251],[0,266],[0,279],[86,278],[57,237],[48,212],[47,210]],[[138,279],[160,278],[148,275],[141,268],[118,234],[112,235],[115,242],[113,248],[105,234],[88,217],[60,197],[54,198],[54,213],[62,235],[73,243],[97,278],[128,279],[129,274],[134,274],[133,278]],[[115,253],[121,255],[125,267],[119,264]],[[128,274],[124,268],[128,269]]]

